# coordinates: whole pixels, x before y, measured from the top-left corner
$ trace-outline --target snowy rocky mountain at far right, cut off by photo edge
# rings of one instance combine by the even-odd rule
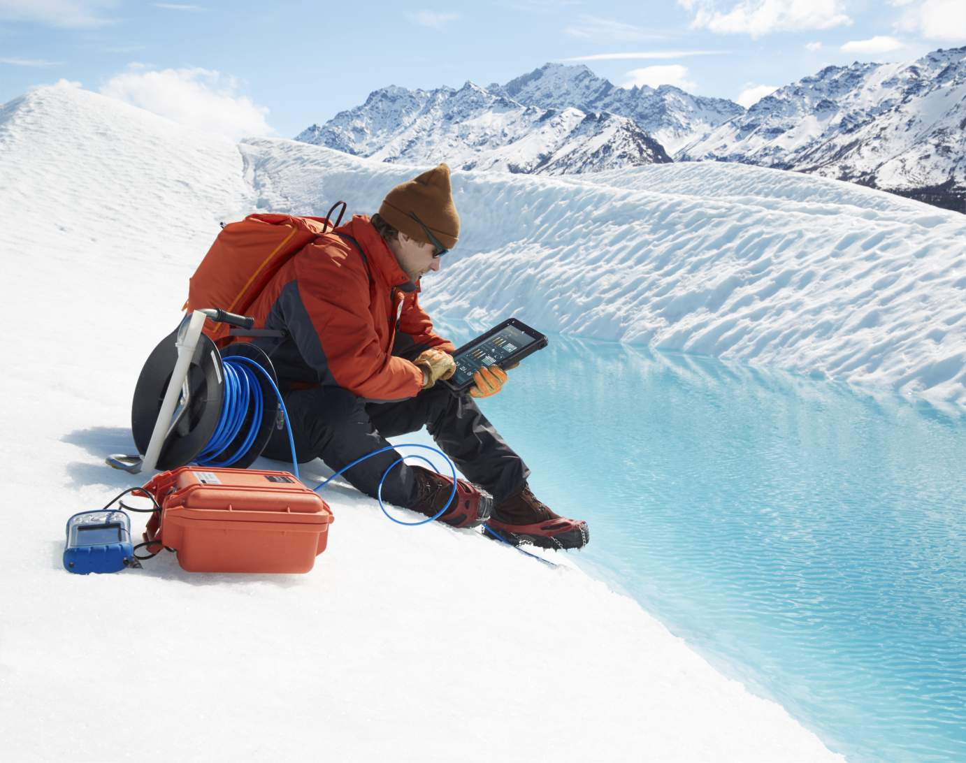
[[[966,211],[966,47],[827,67],[676,158],[809,172]]]

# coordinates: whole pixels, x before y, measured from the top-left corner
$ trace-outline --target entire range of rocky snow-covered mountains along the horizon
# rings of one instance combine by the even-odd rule
[[[548,175],[668,155],[736,161],[966,212],[966,47],[912,63],[828,67],[747,111],[670,85],[628,90],[585,66],[546,64],[485,89],[387,87],[297,139],[384,161]]]

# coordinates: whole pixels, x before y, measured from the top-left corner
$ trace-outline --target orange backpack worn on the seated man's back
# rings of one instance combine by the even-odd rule
[[[345,203],[333,225],[328,217],[249,214],[223,225],[201,265],[188,282],[185,310],[220,307],[245,315],[278,269],[305,244],[325,236],[342,221]],[[204,331],[219,346],[228,340],[227,324],[205,321]]]

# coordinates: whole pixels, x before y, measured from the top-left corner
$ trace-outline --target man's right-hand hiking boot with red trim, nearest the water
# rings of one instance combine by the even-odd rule
[[[554,514],[527,485],[497,504],[487,526],[514,546],[530,543],[541,549],[582,549],[590,541],[587,523]]]

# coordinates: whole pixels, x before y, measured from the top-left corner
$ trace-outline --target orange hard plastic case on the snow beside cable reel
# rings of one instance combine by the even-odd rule
[[[145,540],[188,572],[306,573],[326,550],[332,511],[287,471],[181,466],[143,490],[161,506]]]

